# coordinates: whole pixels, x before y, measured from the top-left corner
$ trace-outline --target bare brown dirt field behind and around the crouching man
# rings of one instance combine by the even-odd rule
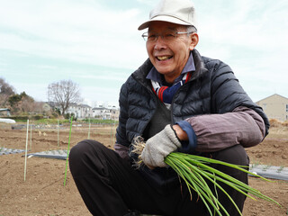
[[[79,126],[79,125],[78,125]],[[54,127],[55,128],[55,127]],[[90,131],[90,139],[97,139],[112,148],[114,127],[96,127]],[[30,152],[52,149],[67,149],[66,130],[52,128],[33,129],[29,133]],[[87,127],[73,127],[70,148],[82,139],[87,139]],[[24,149],[26,130],[12,130],[0,125],[0,148]],[[59,147],[58,147],[59,145]],[[288,166],[288,127],[273,127],[265,141],[254,148],[247,148],[251,163],[271,166]],[[31,157],[27,159],[27,174],[24,182],[24,153],[0,156],[0,216],[9,215],[90,215],[86,210],[76,185],[67,171],[66,186],[63,185],[66,161]],[[265,182],[255,177],[249,184],[262,193],[280,202],[274,203],[247,199],[245,216],[284,216],[288,208],[288,182],[276,180]]]

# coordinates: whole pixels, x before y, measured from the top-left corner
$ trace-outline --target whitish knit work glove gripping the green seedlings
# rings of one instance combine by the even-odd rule
[[[140,157],[147,166],[167,166],[164,158],[181,147],[181,142],[176,137],[172,125],[168,124],[156,135],[147,140]]]

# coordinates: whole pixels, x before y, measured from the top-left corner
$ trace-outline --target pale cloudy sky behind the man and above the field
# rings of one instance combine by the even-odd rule
[[[227,63],[257,102],[288,97],[288,1],[194,0],[203,55]],[[118,104],[148,58],[142,31],[153,0],[0,0],[0,76],[36,100],[71,79],[86,101]],[[94,105],[94,103],[90,103]]]

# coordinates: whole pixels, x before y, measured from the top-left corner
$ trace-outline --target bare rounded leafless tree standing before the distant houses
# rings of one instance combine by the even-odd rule
[[[56,103],[64,115],[71,103],[81,102],[79,85],[71,80],[60,80],[48,85],[48,100]]]

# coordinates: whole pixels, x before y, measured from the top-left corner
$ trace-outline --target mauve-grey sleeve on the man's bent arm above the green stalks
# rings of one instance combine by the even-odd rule
[[[242,145],[244,148],[259,144],[266,134],[262,117],[247,107],[233,112],[205,114],[187,119],[197,137],[197,151],[213,152]]]

